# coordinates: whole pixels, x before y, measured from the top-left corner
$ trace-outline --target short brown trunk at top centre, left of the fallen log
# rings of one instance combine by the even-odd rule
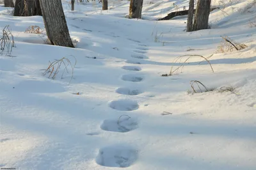
[[[143,0],[131,0],[129,19],[141,19]]]

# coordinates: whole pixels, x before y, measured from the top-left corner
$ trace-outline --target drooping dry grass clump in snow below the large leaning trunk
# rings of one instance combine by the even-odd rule
[[[76,66],[76,58],[74,56],[72,56],[72,57],[75,59],[74,65],[72,65],[70,59],[68,59],[68,58],[57,59],[57,60],[53,61],[52,63],[49,61],[49,66],[45,69],[45,72],[43,73],[43,75],[45,76],[48,74],[48,78],[56,79],[56,76],[58,75],[58,73],[61,70],[61,66],[64,66],[64,68],[62,70],[62,74],[61,74],[61,79],[63,79],[63,75],[65,72],[69,73],[68,70],[71,70],[72,76],[69,81],[69,83],[70,83],[73,79],[74,67]]]

